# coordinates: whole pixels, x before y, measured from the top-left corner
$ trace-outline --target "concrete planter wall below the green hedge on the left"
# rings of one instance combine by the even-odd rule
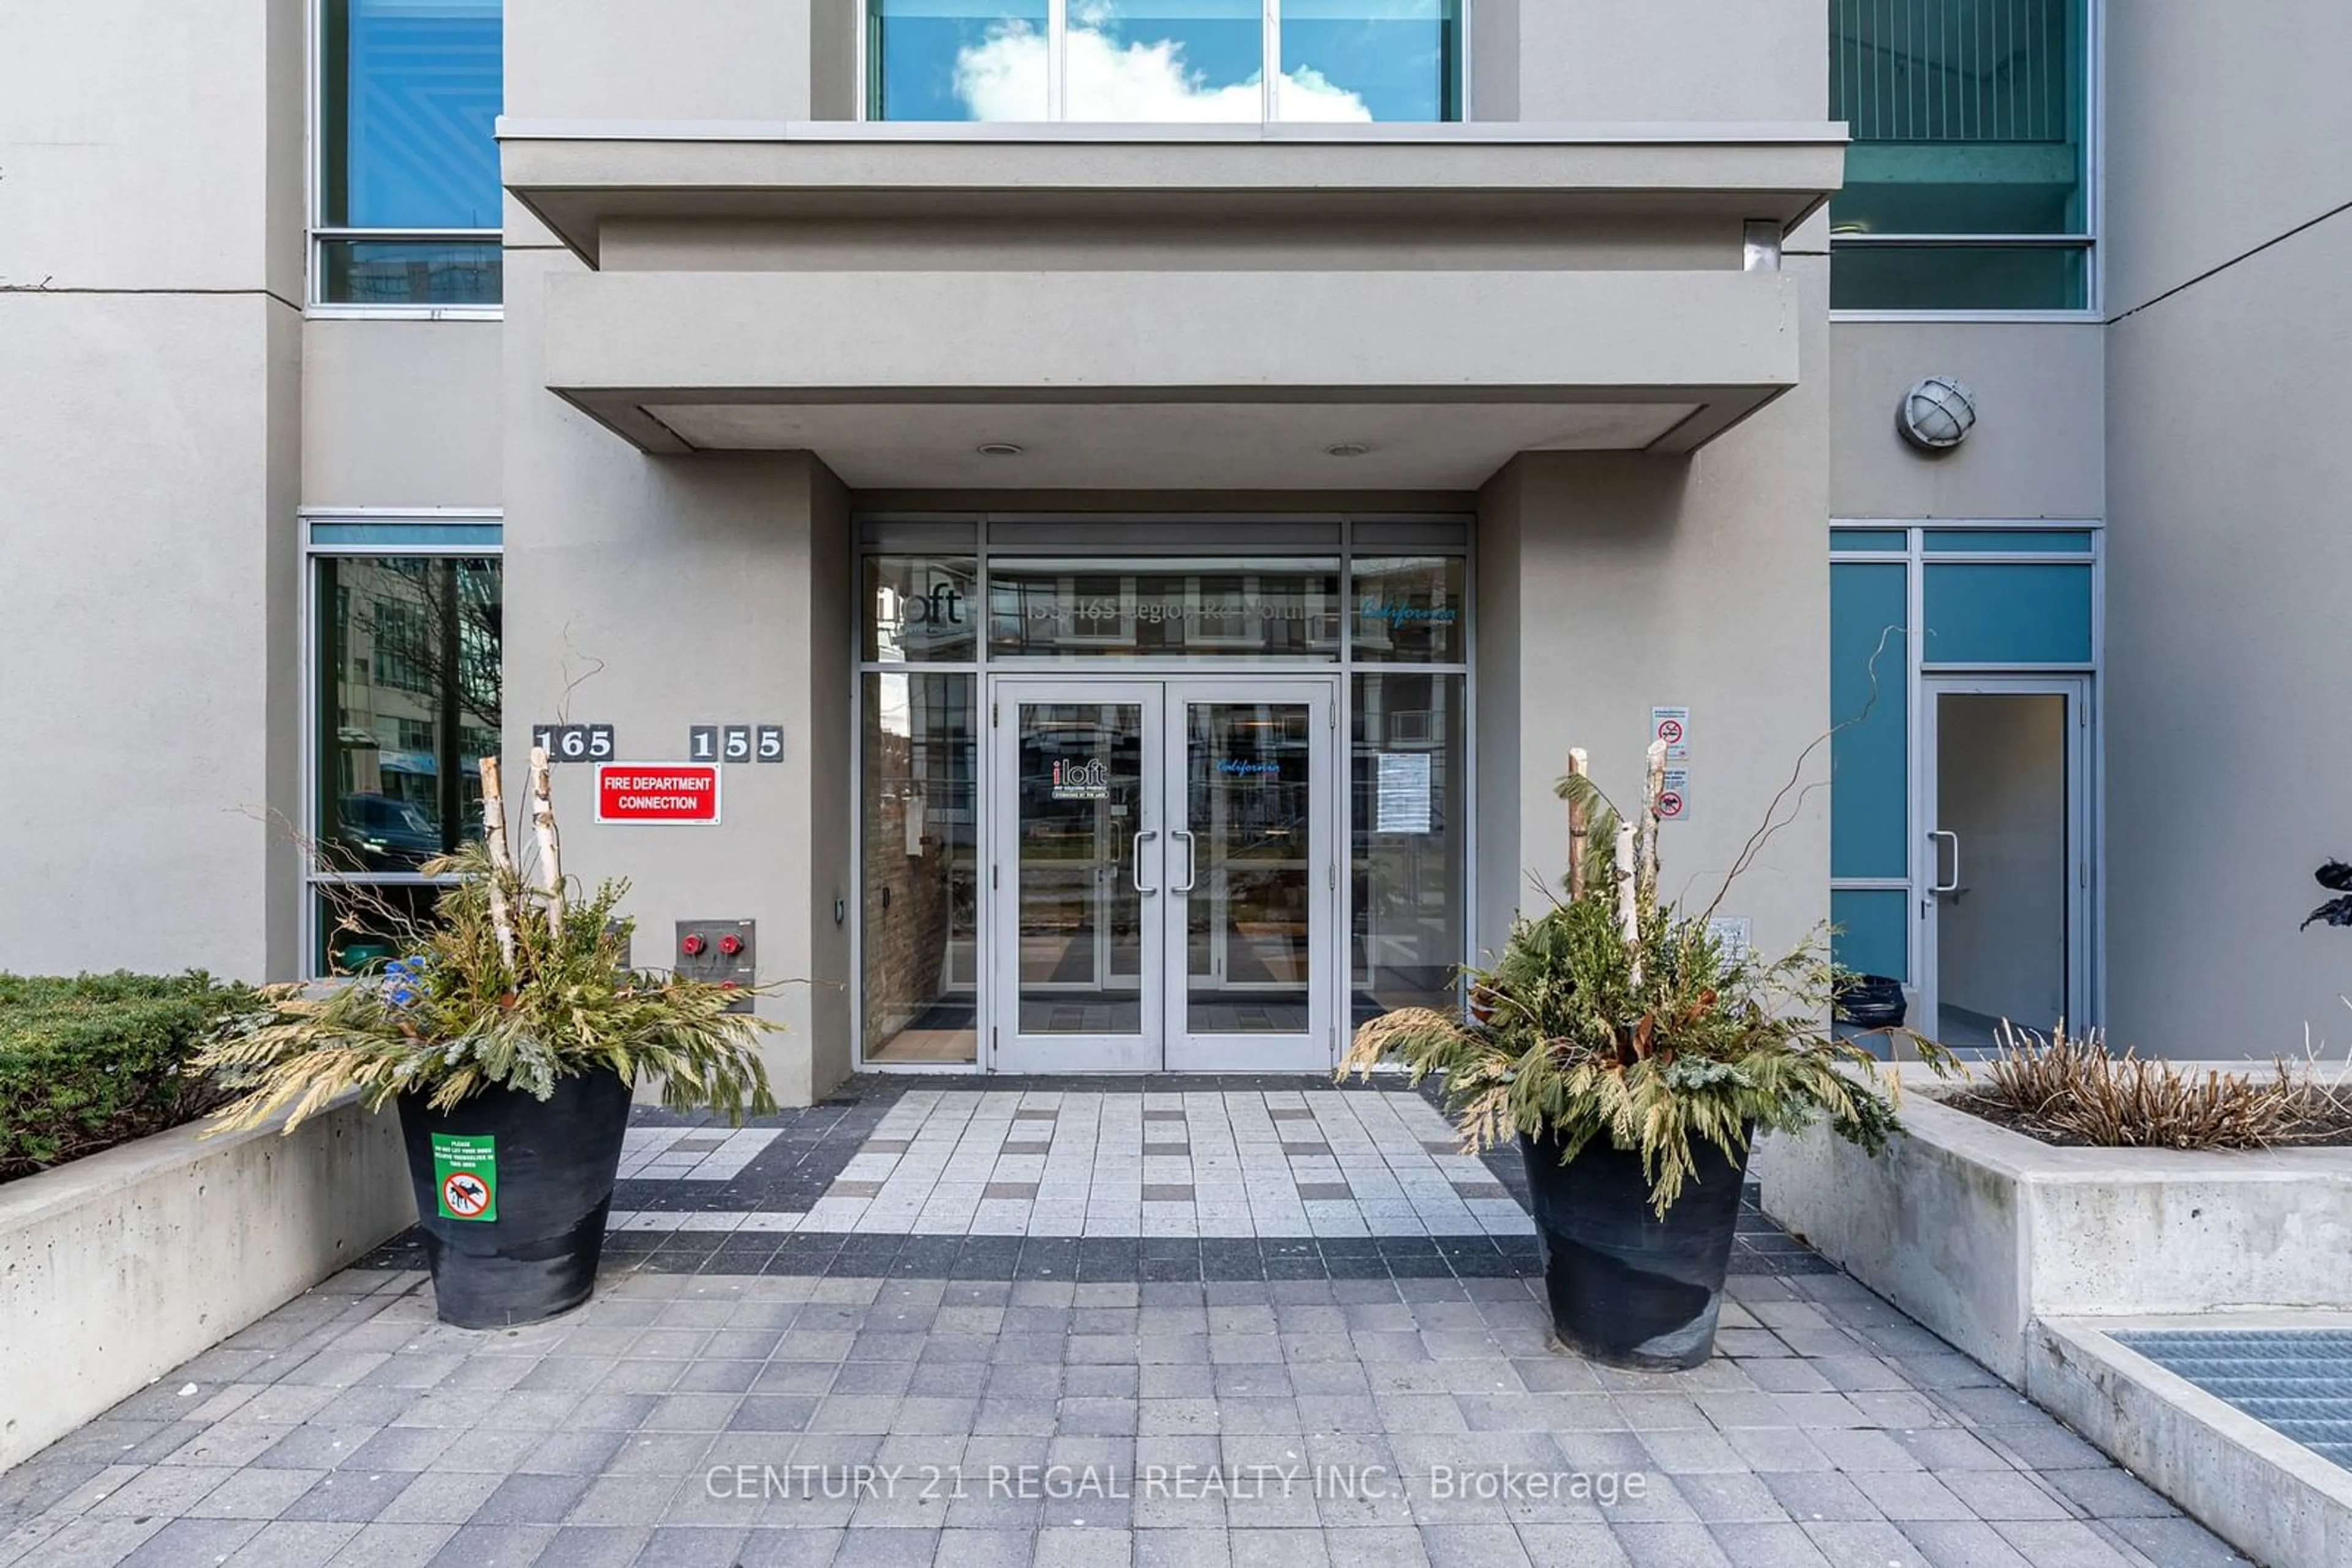
[[[205,1126],[0,1185],[0,1469],[416,1222],[393,1114]]]

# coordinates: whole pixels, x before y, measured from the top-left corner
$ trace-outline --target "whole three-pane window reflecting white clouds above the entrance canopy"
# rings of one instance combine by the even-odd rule
[[[875,120],[1461,120],[1458,0],[870,0]],[[1268,68],[1268,45],[1275,47]]]

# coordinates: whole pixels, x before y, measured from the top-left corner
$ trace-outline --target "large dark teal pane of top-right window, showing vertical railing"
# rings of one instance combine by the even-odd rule
[[[1837,233],[2077,235],[2084,0],[1830,0]]]

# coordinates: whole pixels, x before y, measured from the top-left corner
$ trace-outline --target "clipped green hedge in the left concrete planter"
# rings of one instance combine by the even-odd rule
[[[209,976],[0,976],[0,1180],[202,1117],[193,1070],[252,994]]]

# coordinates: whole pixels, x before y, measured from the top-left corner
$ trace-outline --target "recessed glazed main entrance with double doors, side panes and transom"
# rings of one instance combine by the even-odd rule
[[[858,531],[861,1065],[1322,1072],[1458,1004],[1458,517]]]

